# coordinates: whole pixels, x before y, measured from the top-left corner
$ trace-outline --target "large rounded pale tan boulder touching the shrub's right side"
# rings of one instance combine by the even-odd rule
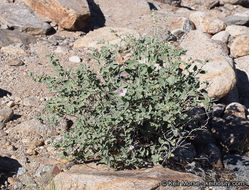
[[[190,31],[181,41],[180,46],[186,50],[183,60],[189,58],[202,60],[203,63],[193,62],[199,67],[203,65],[206,74],[199,75],[200,80],[210,83],[208,94],[220,99],[228,94],[236,84],[236,76],[232,60],[224,47],[211,40],[207,34],[198,30]],[[209,60],[205,63],[205,60]]]

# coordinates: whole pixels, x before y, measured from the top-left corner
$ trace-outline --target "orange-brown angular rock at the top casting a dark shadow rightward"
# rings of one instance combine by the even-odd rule
[[[30,8],[46,16],[64,29],[81,30],[89,22],[86,0],[23,0]]]

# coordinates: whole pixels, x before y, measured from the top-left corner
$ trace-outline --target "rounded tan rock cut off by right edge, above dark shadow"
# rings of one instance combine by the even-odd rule
[[[230,44],[230,51],[235,58],[249,55],[249,34],[236,36]]]

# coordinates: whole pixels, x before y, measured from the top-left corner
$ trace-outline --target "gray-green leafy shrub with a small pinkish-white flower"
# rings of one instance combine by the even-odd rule
[[[98,73],[86,64],[67,71],[51,56],[57,76],[35,77],[57,93],[46,110],[77,118],[56,147],[77,160],[115,168],[149,166],[173,156],[192,121],[188,110],[210,105],[196,76],[203,71],[190,71],[182,53],[154,37],[127,36],[119,45],[93,51],[102,65]]]

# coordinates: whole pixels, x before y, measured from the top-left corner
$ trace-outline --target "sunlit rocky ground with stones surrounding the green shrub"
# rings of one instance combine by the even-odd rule
[[[64,12],[50,10],[43,0],[34,2],[0,2],[1,189],[170,189],[160,185],[161,181],[176,179],[240,181],[233,187],[211,189],[248,188],[248,0],[82,0],[80,6],[76,0],[47,1],[58,6],[57,10],[64,10],[60,4],[66,4]],[[74,165],[54,150],[50,138],[56,138],[69,123],[62,120],[55,128],[36,120],[54,94],[34,82],[30,72],[52,74],[49,54],[66,68],[82,63],[96,68],[89,48],[97,47],[102,39],[116,42],[110,27],[121,34],[151,35],[152,10],[162,40],[170,39],[184,48],[183,59],[209,59],[204,65],[208,73],[201,80],[211,83],[208,93],[217,106],[208,128],[197,131],[193,142],[176,152],[171,166],[192,174],[163,168],[117,174],[104,166]],[[67,19],[75,12],[81,15],[78,20]],[[200,63],[193,60],[193,64]],[[200,113],[202,110],[196,110],[195,115]],[[198,185],[176,186],[200,189]]]

